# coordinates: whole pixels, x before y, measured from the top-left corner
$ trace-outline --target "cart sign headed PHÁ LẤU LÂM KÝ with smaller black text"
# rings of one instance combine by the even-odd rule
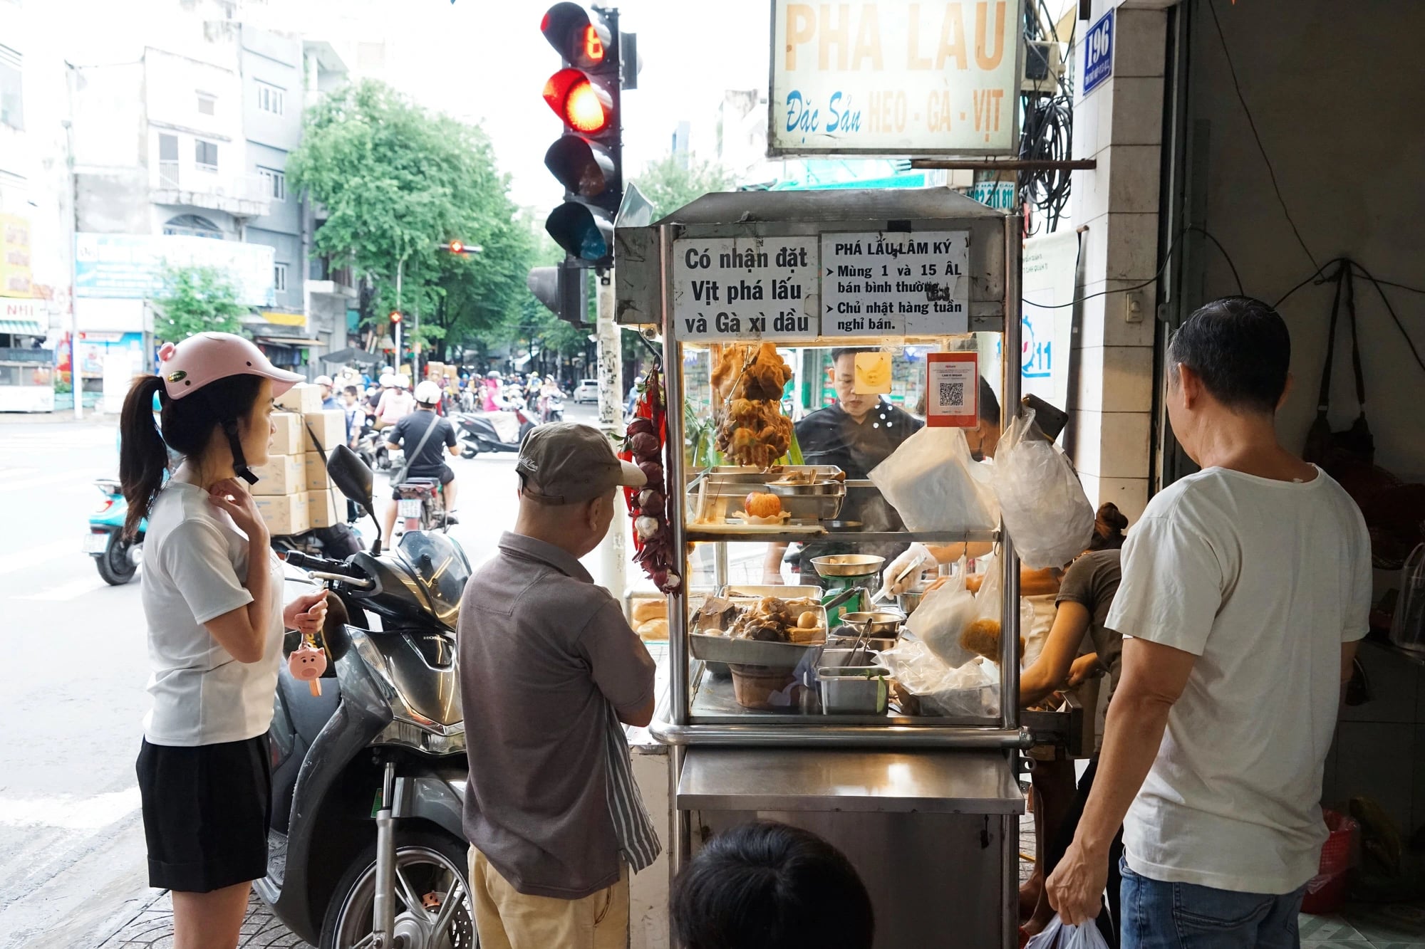
[[[968,231],[822,234],[822,335],[968,332],[969,247]]]

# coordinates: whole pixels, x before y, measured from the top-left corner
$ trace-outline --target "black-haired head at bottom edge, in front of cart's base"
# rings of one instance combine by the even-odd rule
[[[851,861],[809,831],[744,824],[714,836],[673,883],[685,949],[871,949],[875,913]]]

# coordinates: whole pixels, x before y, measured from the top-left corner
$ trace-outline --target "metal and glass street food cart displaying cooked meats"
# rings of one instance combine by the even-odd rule
[[[841,502],[875,490],[871,482],[789,463],[795,446],[777,432],[791,425],[775,418],[771,398],[761,403],[768,418],[745,423],[765,443],[740,446],[728,419],[750,412],[735,400],[757,395],[742,379],[762,343],[794,358],[819,349],[824,359],[838,346],[925,358],[983,351],[976,332],[1000,333],[1010,358],[993,372],[1000,405],[1016,410],[1020,237],[1017,217],[943,188],[711,194],[651,227],[618,228],[617,319],[663,336],[670,573],[680,583],[668,597],[670,694],[651,731],[671,745],[674,873],[722,828],[784,821],[821,834],[855,864],[875,905],[876,946],[948,945],[950,933],[956,945],[1017,945],[1017,769],[1032,735],[1016,702],[1013,540],[996,529],[915,533],[841,520]],[[925,363],[929,373],[940,365]],[[932,402],[963,395],[939,385],[946,379],[956,378],[931,375]],[[777,375],[765,382],[781,385]],[[972,427],[973,412],[955,423]],[[710,437],[720,455],[707,450]],[[750,492],[777,489],[779,520],[744,503]],[[855,551],[911,541],[999,544],[1005,634],[998,688],[979,714],[888,707],[884,675],[861,670],[874,661],[864,643],[859,654],[842,653],[855,671],[829,668],[826,636],[841,633],[852,650],[848,633],[869,638],[835,594],[852,586],[864,587],[862,598],[875,593],[888,561]],[[770,544],[852,553],[814,559],[817,573],[804,573],[801,587],[738,576],[748,549]],[[789,633],[730,636],[727,620],[748,623],[768,596],[792,604],[782,620]],[[789,618],[797,611],[804,630]],[[812,640],[824,636],[799,641],[807,630]]]

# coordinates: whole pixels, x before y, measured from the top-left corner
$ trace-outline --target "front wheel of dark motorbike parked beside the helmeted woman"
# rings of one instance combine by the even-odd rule
[[[396,936],[405,936],[408,949],[475,949],[479,945],[475,901],[466,879],[467,855],[465,841],[453,836],[396,831]],[[351,949],[370,935],[375,891],[376,845],[372,844],[346,868],[326,903],[322,949]],[[459,902],[442,913],[452,895]],[[423,905],[430,896],[439,899],[439,906],[428,909]]]

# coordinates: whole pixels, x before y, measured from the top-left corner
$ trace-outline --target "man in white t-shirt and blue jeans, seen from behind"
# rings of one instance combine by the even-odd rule
[[[1203,470],[1149,503],[1107,626],[1123,633],[1093,792],[1049,879],[1090,919],[1123,826],[1123,949],[1297,946],[1321,772],[1371,603],[1361,512],[1277,442],[1291,339],[1265,304],[1173,335],[1164,398]]]

